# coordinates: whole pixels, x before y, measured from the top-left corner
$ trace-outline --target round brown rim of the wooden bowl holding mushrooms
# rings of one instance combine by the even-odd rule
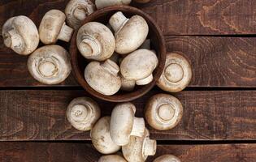
[[[93,12],[93,14],[89,15],[85,18],[83,23],[81,23],[80,27],[83,26],[85,23],[92,22],[93,19],[98,19],[98,17],[101,17],[102,15],[106,14],[110,11],[122,11],[122,12],[130,12],[134,15],[141,15],[147,23],[151,23],[149,27],[151,26],[151,30],[153,27],[154,33],[157,37],[158,45],[159,45],[159,54],[158,54],[158,66],[154,70],[154,79],[151,83],[140,87],[136,91],[133,92],[127,92],[125,94],[118,94],[118,95],[112,95],[112,96],[106,96],[103,95],[97,91],[95,91],[92,87],[89,86],[89,84],[86,82],[84,77],[84,70],[81,71],[80,67],[77,63],[77,56],[79,54],[79,51],[76,47],[76,36],[79,29],[77,29],[72,36],[71,45],[69,48],[69,53],[71,55],[71,62],[72,62],[72,70],[75,75],[76,81],[82,86],[86,92],[89,92],[92,96],[95,96],[101,100],[111,101],[111,102],[128,102],[131,100],[136,100],[137,98],[144,96],[147,92],[150,92],[150,90],[155,86],[156,82],[160,78],[160,76],[163,73],[165,62],[166,62],[166,45],[165,40],[163,37],[163,33],[161,32],[161,29],[158,27],[158,24],[155,23],[154,19],[150,17],[150,15],[146,14],[144,11],[141,11],[140,9],[137,9],[132,6],[108,6],[106,8],[102,8],[98,11]],[[81,75],[82,74],[82,75]]]

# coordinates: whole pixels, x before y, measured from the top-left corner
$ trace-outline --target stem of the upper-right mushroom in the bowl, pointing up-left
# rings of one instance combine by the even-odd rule
[[[111,19],[109,20],[109,23],[111,24],[111,27],[117,33],[120,28],[124,26],[125,23],[128,22],[128,18],[124,16],[122,12],[116,12],[114,15],[111,16]]]

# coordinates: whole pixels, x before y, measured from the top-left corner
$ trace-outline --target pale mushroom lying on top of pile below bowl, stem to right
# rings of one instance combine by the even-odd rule
[[[129,143],[130,136],[142,137],[145,121],[134,117],[136,107],[132,103],[117,104],[111,113],[111,139],[119,146]]]

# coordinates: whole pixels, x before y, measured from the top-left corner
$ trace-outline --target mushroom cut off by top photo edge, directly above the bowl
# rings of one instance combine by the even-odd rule
[[[95,5],[98,9],[106,6],[128,5],[132,0],[95,0]]]

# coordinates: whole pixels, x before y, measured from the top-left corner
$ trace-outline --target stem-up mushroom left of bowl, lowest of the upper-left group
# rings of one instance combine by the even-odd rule
[[[70,75],[72,66],[66,49],[59,45],[46,45],[28,58],[28,71],[40,83],[57,84]]]

